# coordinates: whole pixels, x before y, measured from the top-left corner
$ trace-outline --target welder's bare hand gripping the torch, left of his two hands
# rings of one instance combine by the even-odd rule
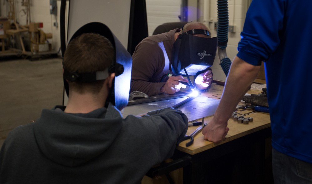
[[[167,82],[161,87],[160,92],[165,94],[174,94],[175,92],[180,91],[180,88],[186,88],[181,82],[188,82],[187,79],[184,79],[182,75],[171,76]]]

